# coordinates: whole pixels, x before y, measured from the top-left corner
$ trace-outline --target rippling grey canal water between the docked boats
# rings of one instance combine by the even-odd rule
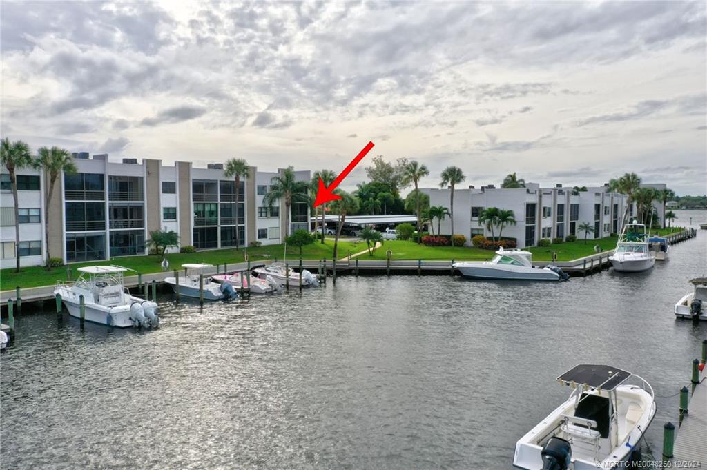
[[[509,469],[576,363],[626,368],[660,396],[689,381],[707,324],[672,305],[706,274],[699,235],[644,274],[342,277],[203,309],[165,294],[147,332],[25,315],[0,359],[1,467]],[[658,399],[657,452],[677,407]]]

